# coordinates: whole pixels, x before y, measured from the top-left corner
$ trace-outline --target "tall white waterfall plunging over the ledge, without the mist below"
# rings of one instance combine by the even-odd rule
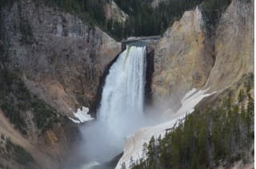
[[[145,84],[146,46],[127,45],[106,77],[98,120],[126,132],[126,122],[143,115]]]

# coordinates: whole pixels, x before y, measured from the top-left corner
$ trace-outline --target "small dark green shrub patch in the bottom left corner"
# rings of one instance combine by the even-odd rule
[[[32,162],[34,159],[29,152],[18,144],[13,143],[10,138],[6,139],[6,151],[14,155],[14,159],[18,163],[26,164]]]

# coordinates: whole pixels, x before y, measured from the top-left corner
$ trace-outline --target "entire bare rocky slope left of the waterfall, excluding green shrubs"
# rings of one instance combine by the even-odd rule
[[[18,110],[26,123],[26,134],[20,134],[9,120],[0,121],[0,127],[3,126],[0,133],[5,133],[6,138],[10,137],[34,157],[35,163],[25,168],[34,168],[34,165],[58,168],[70,154],[74,140],[79,138],[77,126],[66,116],[73,116],[82,105],[94,107],[100,77],[120,53],[121,44],[72,14],[31,0],[14,1],[1,9],[0,32],[1,75],[7,70],[21,77],[18,84],[25,83],[30,92],[26,99],[32,99],[26,105],[41,100],[38,102],[40,108],[54,108],[58,112],[54,115],[58,116],[57,122],[46,114],[53,125],[43,132],[37,126],[37,110]],[[12,107],[17,108],[27,101],[18,98],[19,94],[15,93],[18,86],[11,85],[13,91],[6,95],[8,101],[14,101]],[[2,107],[5,102],[0,102]],[[50,109],[46,112],[51,112]],[[49,123],[48,120],[45,122]],[[6,124],[9,131],[15,132],[6,132]],[[2,163],[0,158],[0,163],[6,166],[24,167],[13,160],[9,162]]]

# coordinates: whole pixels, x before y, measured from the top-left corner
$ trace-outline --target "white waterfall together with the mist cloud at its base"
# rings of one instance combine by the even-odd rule
[[[87,160],[114,158],[122,152],[126,136],[146,124],[145,84],[146,46],[127,46],[106,77],[98,120],[82,128]]]

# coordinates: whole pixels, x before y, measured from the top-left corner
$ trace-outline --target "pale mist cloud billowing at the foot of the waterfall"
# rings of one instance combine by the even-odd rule
[[[86,162],[107,163],[123,151],[127,137],[138,128],[157,124],[158,120],[150,116],[122,116],[112,125],[104,121],[95,120],[83,125],[82,145],[79,154],[84,156]]]

